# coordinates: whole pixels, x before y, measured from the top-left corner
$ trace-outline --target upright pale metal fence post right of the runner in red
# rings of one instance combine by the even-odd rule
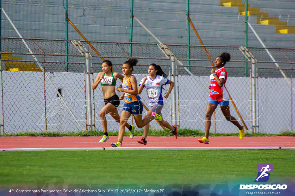
[[[255,58],[251,58],[251,61],[252,61],[252,81],[251,81],[251,84],[252,84],[252,92],[251,92],[251,95],[252,95],[252,107],[253,107],[253,113],[252,113],[252,130],[253,130],[253,133],[256,133],[256,68],[255,68]]]

